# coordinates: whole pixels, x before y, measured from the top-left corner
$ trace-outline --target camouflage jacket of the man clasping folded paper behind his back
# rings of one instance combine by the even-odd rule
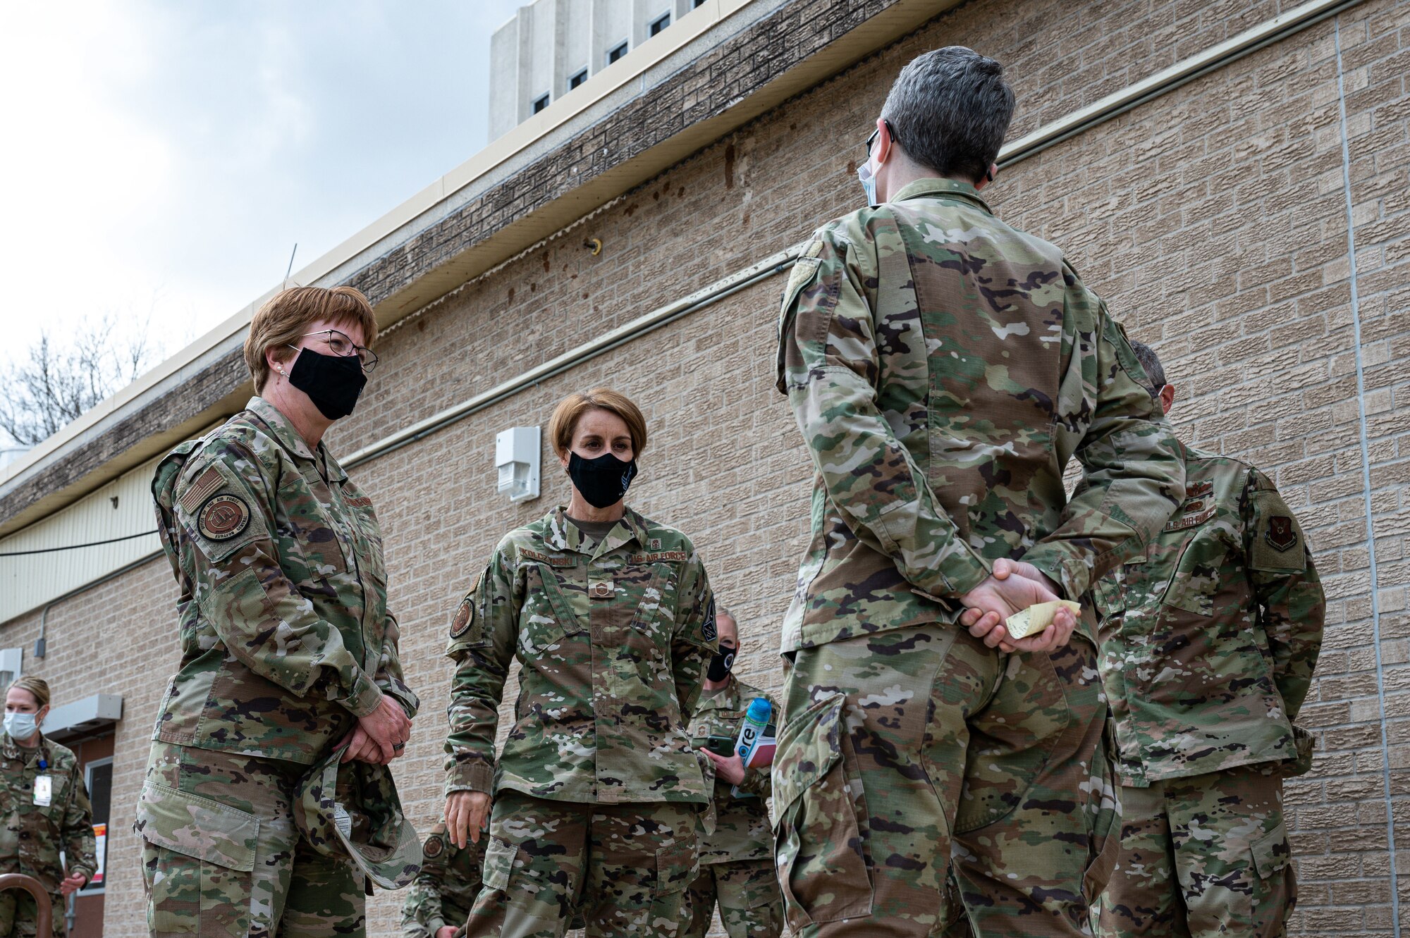
[[[1001,556],[1086,593],[1183,494],[1144,380],[1062,252],[973,186],[918,180],[823,225],[780,314],[778,390],[816,469],[783,651],[956,621]]]

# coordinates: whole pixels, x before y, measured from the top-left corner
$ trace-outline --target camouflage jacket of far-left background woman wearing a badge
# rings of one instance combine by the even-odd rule
[[[45,768],[39,768],[39,762]],[[49,776],[49,803],[34,803],[34,779]],[[0,873],[34,876],[55,899],[55,920],[62,918],[59,883],[63,865],[59,851],[69,863],[69,873],[83,873],[89,879],[97,869],[97,845],[93,839],[93,807],[73,751],[52,739],[39,737],[39,745],[27,749],[0,734],[0,799],[4,808],[4,830],[0,831]],[[6,932],[8,930],[4,930]],[[59,930],[62,932],[62,928]]]

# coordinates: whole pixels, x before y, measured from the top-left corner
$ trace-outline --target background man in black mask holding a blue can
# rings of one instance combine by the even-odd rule
[[[709,758],[715,783],[715,825],[701,842],[701,872],[691,883],[687,906],[691,924],[682,938],[705,938],[715,906],[729,938],[778,938],[784,927],[784,900],[774,873],[774,838],[768,827],[768,766],[746,766],[739,753],[719,755],[708,746],[739,739],[749,704],[768,701],[770,723],[777,721],[774,696],[752,687],[735,675],[742,648],[739,623],[728,610],[716,610],[719,652],[705,672],[705,693],[695,708],[691,737]],[[739,790],[736,794],[735,790]]]

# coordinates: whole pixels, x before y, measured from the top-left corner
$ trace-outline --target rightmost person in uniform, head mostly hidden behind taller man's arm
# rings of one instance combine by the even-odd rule
[[[1132,342],[1169,414],[1175,384]],[[1249,463],[1180,444],[1184,501],[1107,573],[1101,680],[1115,717],[1121,853],[1098,938],[1286,934],[1297,904],[1283,779],[1311,768],[1293,724],[1327,597],[1297,515]]]

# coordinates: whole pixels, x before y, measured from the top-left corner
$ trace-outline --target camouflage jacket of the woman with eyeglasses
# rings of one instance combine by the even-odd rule
[[[152,480],[180,587],[180,666],[154,739],[313,763],[389,694],[409,715],[372,500],[272,404],[185,442]]]

